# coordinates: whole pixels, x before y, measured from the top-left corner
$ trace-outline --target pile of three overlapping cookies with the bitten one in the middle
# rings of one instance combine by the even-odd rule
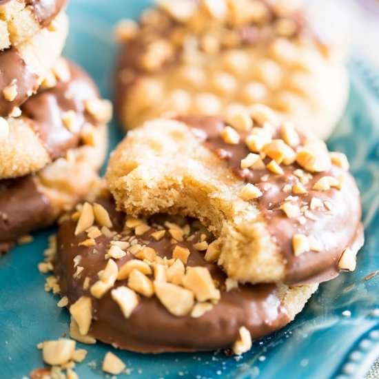
[[[347,76],[298,1],[158,3],[118,28],[133,130],[107,189],[63,218],[48,284],[81,342],[242,354],[356,267],[358,188],[312,133],[331,132]]]

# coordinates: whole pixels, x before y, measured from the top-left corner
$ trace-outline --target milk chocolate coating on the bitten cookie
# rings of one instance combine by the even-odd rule
[[[315,220],[304,218],[305,223],[299,223],[298,218],[289,218],[280,210],[285,198],[291,193],[285,192],[283,187],[287,184],[294,185],[297,181],[294,171],[300,169],[297,163],[283,165],[284,175],[276,175],[269,170],[241,169],[240,161],[249,154],[245,139],[237,145],[227,144],[223,141],[220,132],[225,123],[214,117],[185,116],[179,121],[187,123],[200,132],[203,143],[209,150],[215,152],[227,163],[230,170],[243,181],[256,185],[264,195],[257,199],[258,207],[262,212],[269,232],[276,241],[286,262],[285,283],[319,283],[330,280],[338,275],[338,260],[342,252],[350,247],[357,252],[363,244],[363,229],[360,224],[361,205],[358,188],[354,178],[347,174],[347,179],[342,189],[329,189],[328,191],[314,191],[312,187],[322,176],[338,176],[342,171],[333,165],[329,172],[313,174],[313,177],[305,185],[307,194],[296,195],[294,204],[309,205],[311,198],[320,198],[322,201],[330,201],[333,209],[316,209],[312,211]],[[274,137],[278,138],[278,136]],[[265,158],[265,163],[271,159]],[[267,180],[263,181],[263,176]],[[292,249],[294,234],[314,236],[322,244],[320,252],[305,252],[295,256]]]

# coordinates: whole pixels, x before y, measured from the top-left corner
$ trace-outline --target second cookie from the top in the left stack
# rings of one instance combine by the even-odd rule
[[[21,45],[0,51],[1,117],[17,114],[17,107],[37,92],[61,55],[67,33],[67,17],[59,14],[54,30],[45,28]]]

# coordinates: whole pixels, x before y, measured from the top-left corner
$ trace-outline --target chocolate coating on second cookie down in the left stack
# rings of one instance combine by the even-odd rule
[[[3,90],[12,84],[17,85],[17,96],[8,101]],[[14,107],[18,107],[32,92],[37,91],[38,76],[34,74],[16,48],[0,52],[0,116],[8,116]]]

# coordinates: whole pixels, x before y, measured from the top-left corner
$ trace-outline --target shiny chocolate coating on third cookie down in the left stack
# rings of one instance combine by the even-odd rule
[[[32,121],[30,126],[45,144],[52,160],[79,145],[85,123],[94,123],[94,119],[85,112],[85,101],[99,97],[88,74],[74,63],[69,63],[69,68],[69,81],[58,81],[54,88],[39,91],[21,107],[23,116]],[[68,130],[62,116],[70,110],[75,112],[76,118]]]

